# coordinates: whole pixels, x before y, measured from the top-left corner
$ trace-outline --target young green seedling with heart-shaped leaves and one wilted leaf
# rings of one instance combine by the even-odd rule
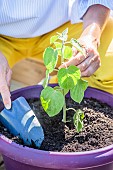
[[[44,89],[41,91],[40,99],[42,107],[45,112],[53,117],[63,110],[62,121],[66,120],[66,111],[73,110],[73,123],[76,127],[77,132],[80,132],[83,128],[84,113],[78,109],[67,108],[65,97],[70,91],[70,97],[80,103],[84,97],[84,91],[86,90],[88,83],[81,79],[80,69],[74,65],[66,68],[56,69],[58,58],[61,59],[61,64],[66,60],[69,60],[72,53],[72,46],[74,46],[79,52],[84,54],[83,48],[80,46],[76,39],[67,41],[68,28],[62,33],[50,38],[50,47],[47,47],[43,54],[44,64],[46,66],[46,78],[43,84]],[[49,86],[50,73],[53,71],[57,72],[58,86],[54,88]]]

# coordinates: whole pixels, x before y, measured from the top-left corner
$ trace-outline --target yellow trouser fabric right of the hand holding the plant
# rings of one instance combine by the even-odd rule
[[[90,77],[85,78],[89,86],[113,94],[113,18],[104,29],[99,46],[101,67]]]

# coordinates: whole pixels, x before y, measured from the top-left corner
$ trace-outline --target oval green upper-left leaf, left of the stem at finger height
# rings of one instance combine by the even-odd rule
[[[46,48],[44,51],[43,60],[44,60],[46,69],[49,70],[49,73],[51,73],[54,70],[57,64],[57,61],[58,61],[57,50],[54,50],[51,47]]]

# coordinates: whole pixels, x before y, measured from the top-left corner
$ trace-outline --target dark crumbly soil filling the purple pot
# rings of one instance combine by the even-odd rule
[[[82,132],[77,133],[72,122],[73,112],[67,113],[67,120],[70,122],[64,124],[62,113],[50,118],[43,111],[38,99],[28,102],[44,129],[45,140],[41,150],[78,152],[99,149],[113,144],[113,109],[107,104],[94,99],[84,99],[79,105],[68,98],[66,100],[67,107],[81,109],[85,114],[84,128]],[[22,140],[9,134],[1,124],[0,133],[16,143],[23,144]]]

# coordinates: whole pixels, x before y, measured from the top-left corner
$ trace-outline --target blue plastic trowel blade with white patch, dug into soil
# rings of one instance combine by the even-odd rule
[[[34,112],[24,97],[12,102],[10,110],[3,109],[0,121],[14,136],[20,137],[24,144],[40,147],[44,140],[44,132]]]

